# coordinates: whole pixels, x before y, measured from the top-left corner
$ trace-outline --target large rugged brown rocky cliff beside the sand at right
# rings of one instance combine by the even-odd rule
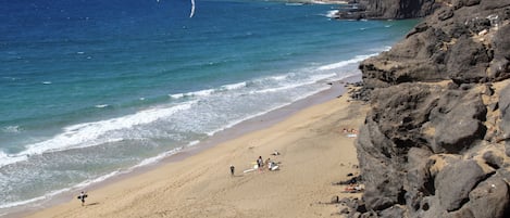
[[[365,192],[349,217],[510,217],[510,1],[443,3],[360,65]]]

